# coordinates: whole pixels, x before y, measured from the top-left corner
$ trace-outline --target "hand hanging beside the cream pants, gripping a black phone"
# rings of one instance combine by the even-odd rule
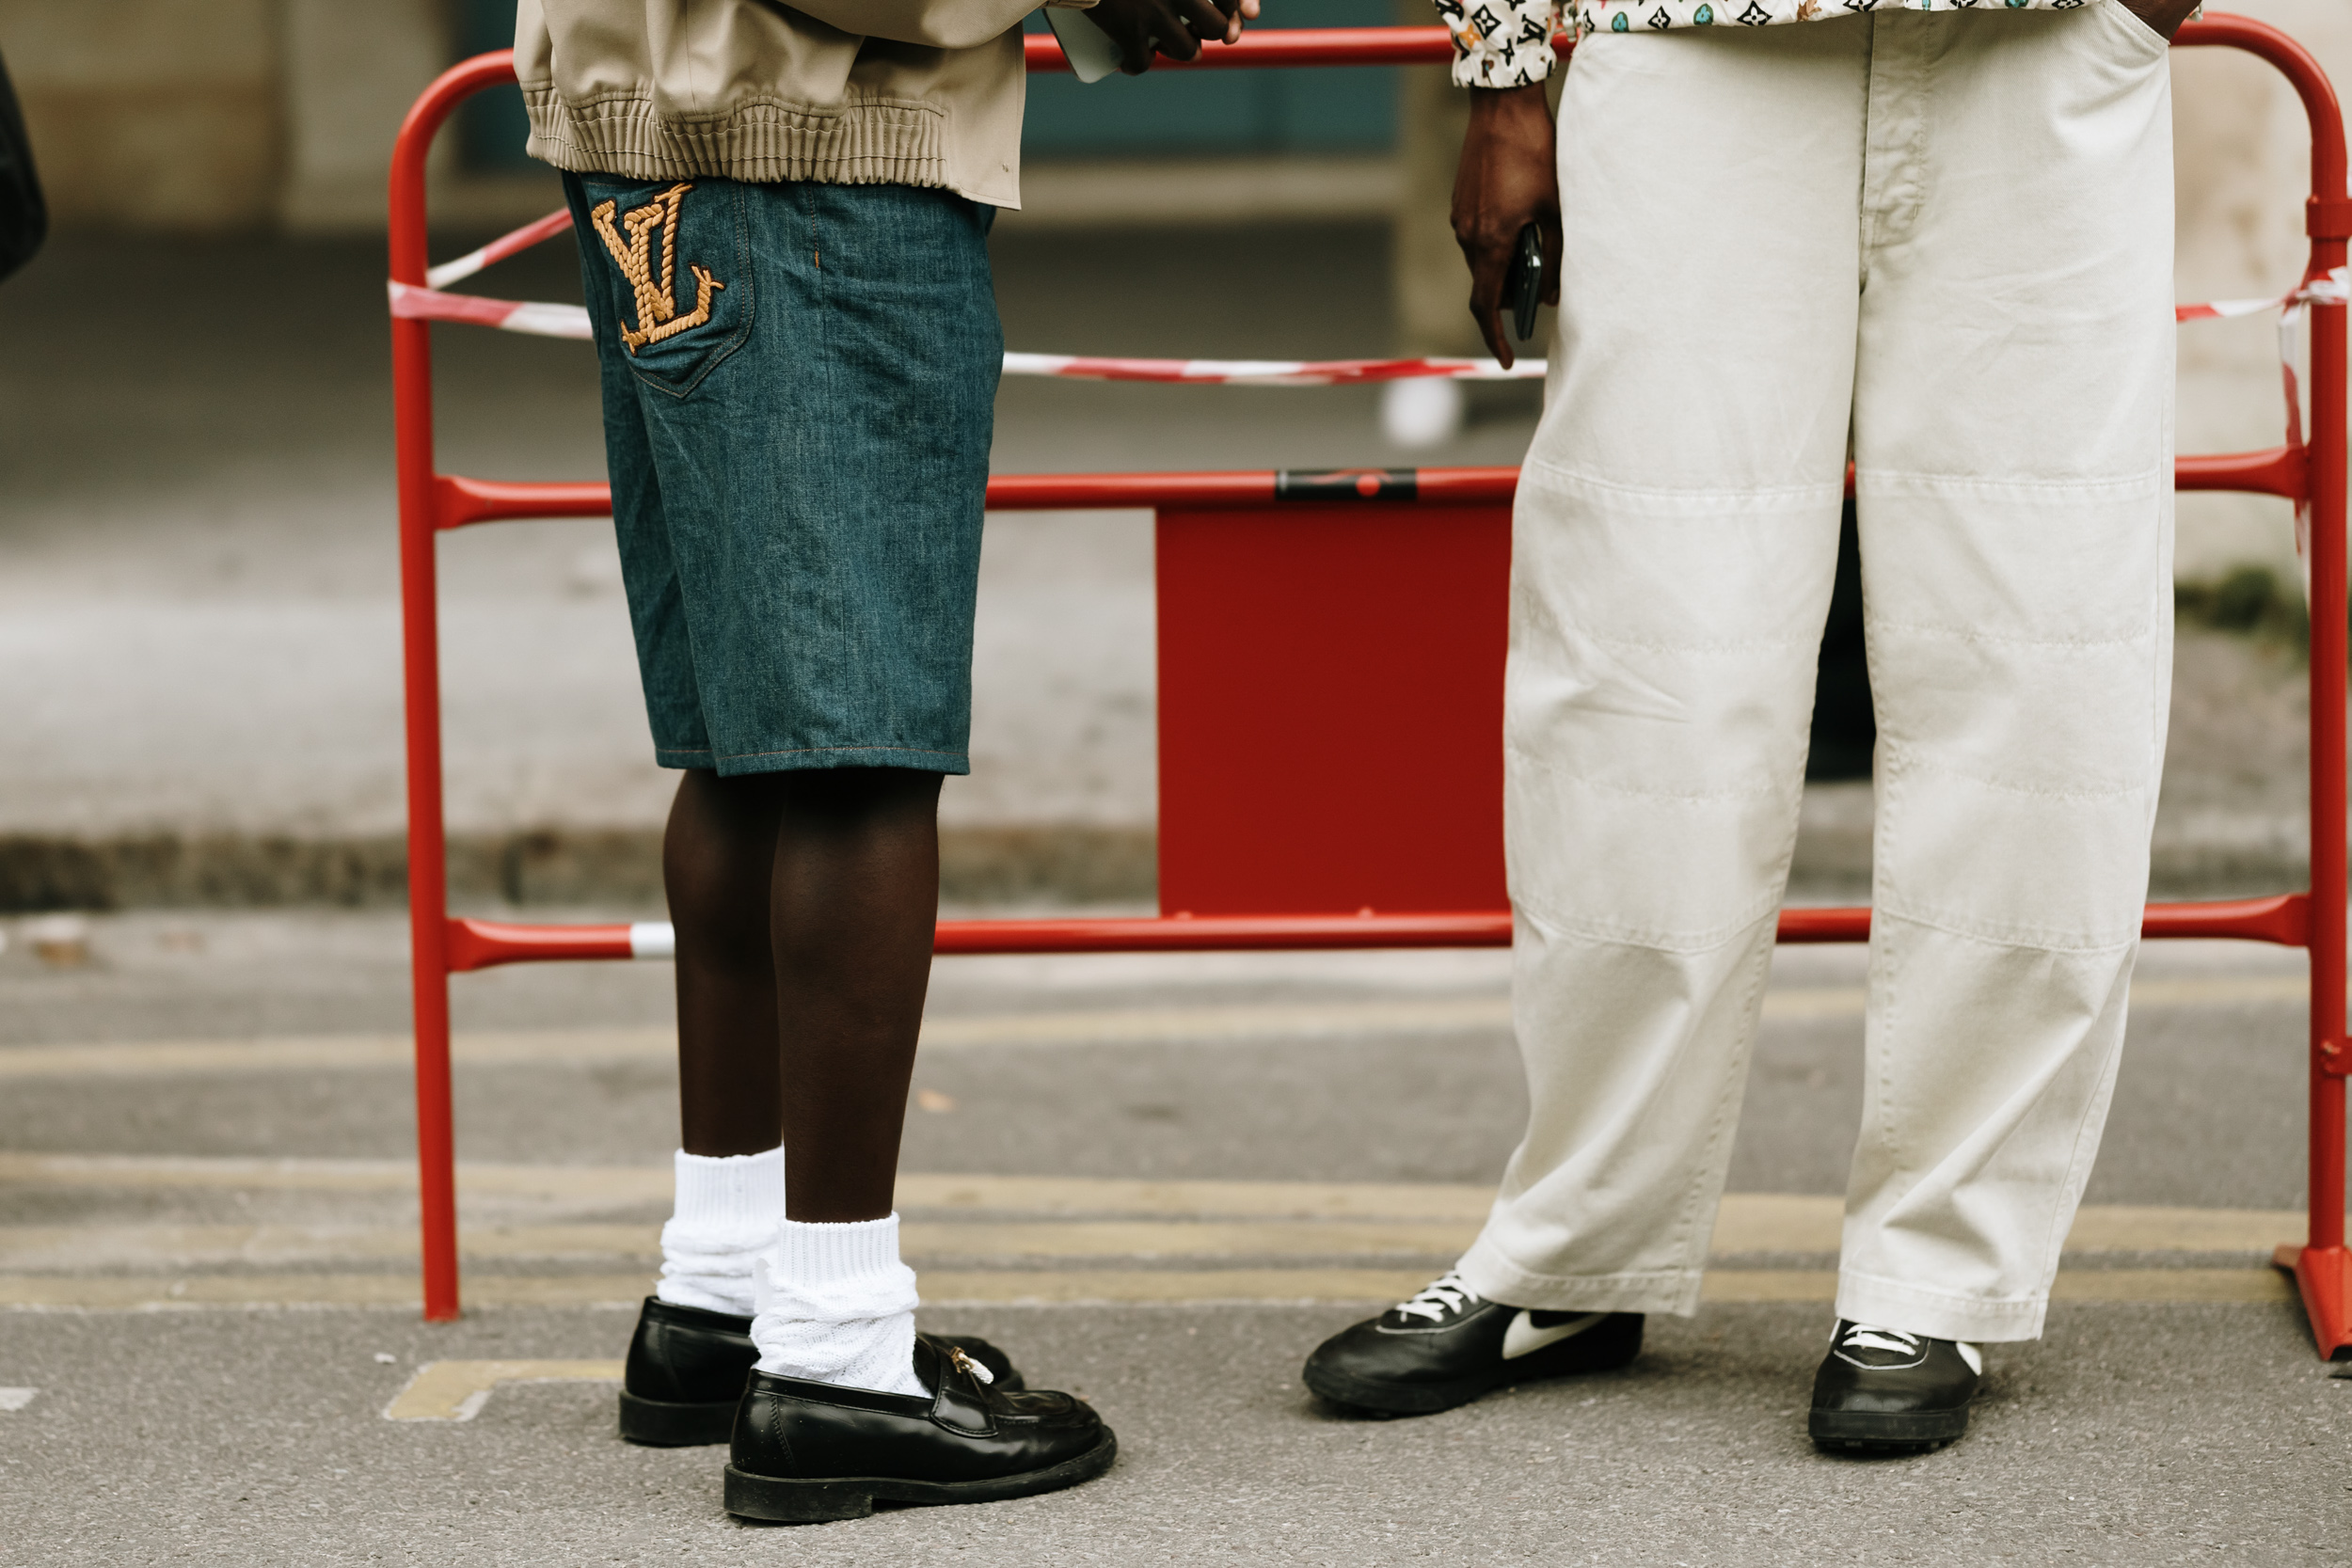
[[[1454,167],[1454,240],[1470,263],[1470,315],[1496,360],[1510,364],[1503,280],[1519,230],[1543,240],[1543,303],[1559,303],[1559,172],[1552,165],[1552,108],[1543,82],[1472,87],[1470,134]]]

